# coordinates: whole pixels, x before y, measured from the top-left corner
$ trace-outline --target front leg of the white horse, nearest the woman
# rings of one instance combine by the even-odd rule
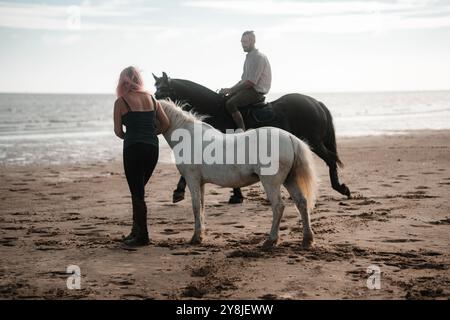
[[[191,244],[200,244],[205,236],[204,216],[204,185],[197,181],[188,181],[192,198],[192,211],[194,212],[195,230]]]

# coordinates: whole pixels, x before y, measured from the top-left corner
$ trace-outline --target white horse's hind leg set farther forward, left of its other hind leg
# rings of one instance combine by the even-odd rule
[[[284,203],[281,199],[280,185],[269,179],[266,180],[263,177],[261,178],[261,183],[266,191],[273,213],[270,235],[263,244],[263,248],[267,249],[275,246],[278,242],[278,230],[280,229],[280,222],[283,217]]]

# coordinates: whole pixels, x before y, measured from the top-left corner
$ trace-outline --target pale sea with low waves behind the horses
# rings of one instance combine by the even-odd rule
[[[330,109],[338,138],[450,129],[450,91],[305,94]],[[121,159],[114,101],[109,94],[0,94],[0,165]],[[162,136],[160,142],[160,161],[173,161]]]

